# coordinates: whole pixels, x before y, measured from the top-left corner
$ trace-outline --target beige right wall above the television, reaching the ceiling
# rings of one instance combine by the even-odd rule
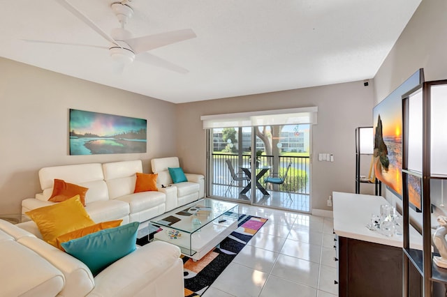
[[[425,80],[447,79],[447,2],[423,0],[374,77],[378,103],[419,68]]]

